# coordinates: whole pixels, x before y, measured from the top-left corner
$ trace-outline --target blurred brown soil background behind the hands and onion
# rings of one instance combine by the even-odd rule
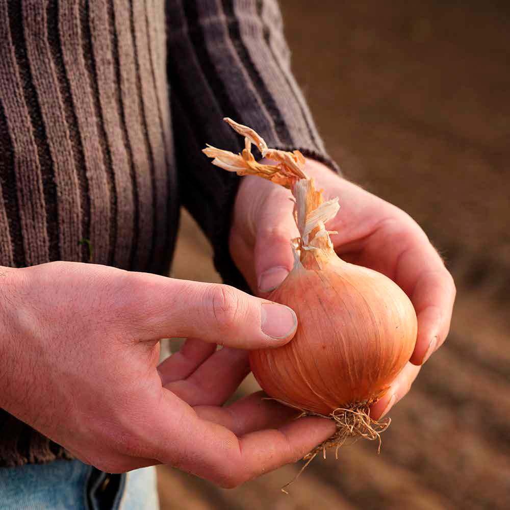
[[[345,175],[409,212],[452,271],[445,346],[366,441],[231,490],[162,467],[163,510],[510,508],[510,4],[282,0],[293,68]],[[173,276],[218,281],[183,216]],[[253,388],[252,380],[244,391]]]

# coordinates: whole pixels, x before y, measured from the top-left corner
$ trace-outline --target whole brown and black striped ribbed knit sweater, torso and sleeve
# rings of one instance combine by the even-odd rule
[[[224,116],[326,159],[274,0],[0,0],[0,265],[167,274],[184,205],[243,286],[239,177],[200,152],[240,150]],[[66,457],[0,409],[0,466]]]

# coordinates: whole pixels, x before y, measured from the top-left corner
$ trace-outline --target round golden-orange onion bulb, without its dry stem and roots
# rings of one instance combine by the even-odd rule
[[[294,269],[268,299],[297,314],[286,345],[250,352],[251,370],[271,397],[329,415],[372,403],[411,358],[417,320],[387,276],[330,257],[322,270]]]

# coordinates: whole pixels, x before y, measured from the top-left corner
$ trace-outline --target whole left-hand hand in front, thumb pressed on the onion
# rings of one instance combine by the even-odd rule
[[[0,269],[0,406],[86,463],[165,463],[234,487],[335,430],[319,418],[288,423],[292,410],[259,394],[221,407],[249,372],[239,348],[294,335],[287,307],[92,264]],[[158,367],[166,337],[189,340]]]

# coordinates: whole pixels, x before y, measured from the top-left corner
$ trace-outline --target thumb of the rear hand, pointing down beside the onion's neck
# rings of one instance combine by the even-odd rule
[[[294,203],[284,188],[276,189],[264,204],[255,229],[254,266],[259,295],[267,295],[287,277],[294,265],[291,240],[298,236]]]

